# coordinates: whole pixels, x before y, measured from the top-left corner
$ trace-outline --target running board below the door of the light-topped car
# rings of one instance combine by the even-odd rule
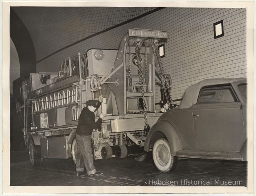
[[[223,151],[196,151],[196,150],[179,150],[175,156],[187,158],[202,158],[202,159],[225,159],[242,161],[243,158],[239,152],[223,152]]]

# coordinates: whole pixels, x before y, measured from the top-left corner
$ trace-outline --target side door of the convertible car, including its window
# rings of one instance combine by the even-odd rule
[[[198,149],[239,151],[245,141],[241,108],[231,85],[202,88],[193,106]]]

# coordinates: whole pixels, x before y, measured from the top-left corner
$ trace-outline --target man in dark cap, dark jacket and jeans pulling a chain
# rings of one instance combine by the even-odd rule
[[[88,100],[86,101],[86,107],[84,107],[79,116],[79,121],[76,130],[76,175],[82,175],[84,172],[84,166],[88,176],[102,175],[101,172],[97,172],[93,165],[93,155],[91,149],[91,134],[93,129],[96,130],[102,123],[103,113],[99,114],[99,119],[95,122],[94,112],[99,108],[103,96],[99,96],[99,101]]]

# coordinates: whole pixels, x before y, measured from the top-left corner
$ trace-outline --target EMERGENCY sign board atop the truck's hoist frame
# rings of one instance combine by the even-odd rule
[[[168,39],[168,32],[154,31],[154,30],[142,30],[142,29],[129,29],[129,36],[132,37],[148,37],[148,38],[164,38]]]

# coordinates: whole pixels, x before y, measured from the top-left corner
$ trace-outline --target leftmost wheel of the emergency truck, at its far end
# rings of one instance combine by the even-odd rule
[[[40,145],[35,145],[33,138],[29,140],[28,146],[29,159],[32,166],[38,166],[41,163]]]

